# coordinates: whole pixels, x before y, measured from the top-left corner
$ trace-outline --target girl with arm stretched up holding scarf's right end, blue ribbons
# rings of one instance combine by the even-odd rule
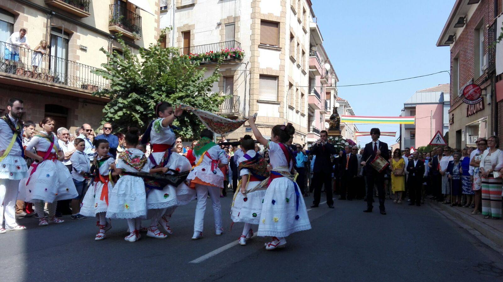
[[[269,149],[273,167],[271,176],[255,187],[256,190],[260,190],[263,184],[268,185],[258,235],[273,236],[273,240],[265,244],[266,250],[285,247],[285,237],[297,231],[311,229],[304,199],[291,174],[292,171],[295,172],[294,157],[286,145],[295,129],[290,123],[276,125],[271,130],[271,140],[268,141],[257,129],[255,117],[249,117],[248,122],[257,140]]]

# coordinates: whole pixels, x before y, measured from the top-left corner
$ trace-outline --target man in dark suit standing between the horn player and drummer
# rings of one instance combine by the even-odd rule
[[[339,157],[340,169],[342,170],[342,185],[341,185],[341,198],[339,200],[346,200],[346,193],[348,193],[348,200],[355,199],[356,196],[356,176],[358,174],[358,158],[356,154],[352,153],[351,146],[344,147],[346,156]]]

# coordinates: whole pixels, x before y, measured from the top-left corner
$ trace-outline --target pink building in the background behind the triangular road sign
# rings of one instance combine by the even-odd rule
[[[418,90],[403,103],[400,116],[415,116],[415,124],[400,125],[400,148],[427,146],[437,131],[449,131],[449,83]]]

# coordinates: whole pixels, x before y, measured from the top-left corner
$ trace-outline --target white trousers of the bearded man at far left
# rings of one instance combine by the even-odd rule
[[[14,228],[16,223],[16,200],[18,199],[19,181],[0,179],[0,228]]]

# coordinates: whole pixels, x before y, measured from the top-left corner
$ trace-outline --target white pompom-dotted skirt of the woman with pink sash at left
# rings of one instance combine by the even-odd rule
[[[33,167],[30,167],[28,175],[32,170]],[[68,168],[58,160],[45,160],[40,163],[31,175],[28,185],[26,185],[27,181],[28,177],[19,183],[18,200],[29,203],[39,201],[54,203],[78,196]]]

